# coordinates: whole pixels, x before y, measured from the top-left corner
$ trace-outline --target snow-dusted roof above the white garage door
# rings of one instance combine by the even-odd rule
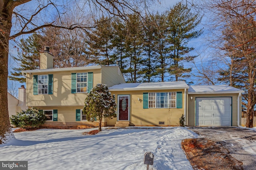
[[[189,86],[188,94],[228,94],[228,93],[244,93],[244,90],[234,88],[228,85],[212,85],[212,86]]]

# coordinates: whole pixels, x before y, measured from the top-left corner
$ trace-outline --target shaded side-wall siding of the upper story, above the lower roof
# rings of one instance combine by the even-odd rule
[[[125,80],[118,66],[102,66],[102,84],[111,87],[120,83],[125,83]]]

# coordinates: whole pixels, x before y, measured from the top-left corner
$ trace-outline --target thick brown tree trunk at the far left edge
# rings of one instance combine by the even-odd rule
[[[7,98],[9,36],[12,27],[12,9],[9,5],[8,1],[0,3],[0,144],[14,138]]]

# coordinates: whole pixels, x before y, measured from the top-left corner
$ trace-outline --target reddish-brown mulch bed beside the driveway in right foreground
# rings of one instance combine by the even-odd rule
[[[243,163],[220,143],[200,138],[184,139],[181,145],[194,170],[243,170]]]

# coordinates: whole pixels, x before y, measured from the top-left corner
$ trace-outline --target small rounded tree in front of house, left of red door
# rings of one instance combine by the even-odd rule
[[[116,117],[115,95],[111,96],[106,84],[97,84],[87,95],[84,102],[83,113],[87,115],[87,120],[100,121],[99,131],[101,131],[101,121],[103,117]]]

